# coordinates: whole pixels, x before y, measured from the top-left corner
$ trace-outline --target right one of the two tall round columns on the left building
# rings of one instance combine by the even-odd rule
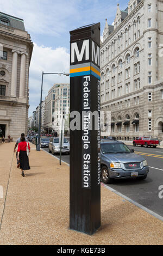
[[[21,52],[21,70],[20,70],[19,97],[25,97],[25,88],[26,88],[26,55],[27,55],[27,53]]]

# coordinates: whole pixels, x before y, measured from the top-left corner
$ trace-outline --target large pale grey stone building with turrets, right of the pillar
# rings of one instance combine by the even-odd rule
[[[101,108],[111,111],[111,136],[163,139],[163,1],[118,5],[101,44]]]

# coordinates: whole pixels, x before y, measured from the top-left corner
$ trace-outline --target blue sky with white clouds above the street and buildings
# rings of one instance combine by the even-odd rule
[[[29,117],[40,103],[41,76],[44,72],[70,70],[70,31],[101,22],[111,25],[117,4],[125,10],[129,0],[0,0],[0,10],[24,20],[26,31],[34,43],[29,69]],[[54,83],[70,83],[66,76],[47,75],[43,78],[42,100]]]

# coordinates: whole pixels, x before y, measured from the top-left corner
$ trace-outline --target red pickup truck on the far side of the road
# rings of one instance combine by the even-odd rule
[[[136,145],[141,145],[141,147],[145,146],[146,148],[156,148],[159,145],[159,140],[158,138],[152,138],[151,136],[142,136],[133,141],[133,146],[136,147]]]

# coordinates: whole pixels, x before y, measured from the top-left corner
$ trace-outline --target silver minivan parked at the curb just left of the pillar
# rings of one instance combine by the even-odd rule
[[[53,155],[60,153],[59,138],[50,138],[49,141],[49,153]],[[64,145],[62,145],[61,153],[70,154],[70,143],[64,138]]]

